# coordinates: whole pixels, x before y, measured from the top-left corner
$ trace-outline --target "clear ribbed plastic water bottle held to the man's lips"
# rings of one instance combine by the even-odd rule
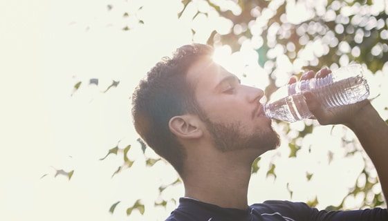
[[[369,96],[369,86],[363,73],[360,64],[350,64],[324,78],[312,78],[283,86],[264,105],[264,113],[269,118],[286,122],[312,117],[302,94],[305,91],[314,93],[325,108],[360,102]]]

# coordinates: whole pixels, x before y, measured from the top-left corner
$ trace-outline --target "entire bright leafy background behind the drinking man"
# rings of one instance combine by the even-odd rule
[[[164,220],[183,184],[138,139],[130,96],[160,57],[193,41],[213,45],[214,59],[265,88],[266,99],[293,74],[361,63],[369,99],[388,119],[387,1],[0,6],[1,220]],[[274,127],[282,144],[252,165],[250,203],[386,206],[376,170],[348,128],[312,120]]]

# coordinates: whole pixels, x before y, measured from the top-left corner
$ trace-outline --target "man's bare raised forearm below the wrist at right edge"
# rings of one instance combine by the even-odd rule
[[[388,124],[369,104],[360,117],[347,124],[360,140],[376,168],[385,202],[388,200]]]

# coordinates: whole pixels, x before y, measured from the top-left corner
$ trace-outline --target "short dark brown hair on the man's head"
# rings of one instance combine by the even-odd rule
[[[148,146],[183,175],[186,153],[169,130],[169,120],[186,113],[200,114],[195,85],[187,81],[190,66],[211,56],[213,48],[191,44],[178,48],[172,57],[163,57],[140,81],[132,95],[132,116],[136,131]]]

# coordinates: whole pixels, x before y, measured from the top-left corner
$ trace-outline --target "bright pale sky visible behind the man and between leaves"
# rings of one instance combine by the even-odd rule
[[[124,12],[136,13],[140,2],[143,9],[138,17],[147,21],[144,25],[133,17],[122,18]],[[161,161],[151,168],[145,166],[131,125],[129,96],[160,57],[192,42],[191,27],[198,28],[194,41],[201,43],[212,28],[219,32],[230,28],[216,15],[211,21],[198,17],[192,23],[190,13],[195,14],[200,4],[190,6],[178,21],[176,13],[183,7],[179,2],[131,1],[129,5],[114,1],[108,11],[111,1],[0,1],[0,220],[124,220],[125,210],[138,199],[146,206],[145,214],[133,211],[131,220],[164,220],[175,208],[172,202],[167,209],[153,208],[158,198],[178,199],[183,186],[172,186],[158,195],[160,184],[174,182],[177,176]],[[126,24],[133,29],[123,32]],[[268,84],[267,74],[255,64],[257,54],[252,47],[247,42],[233,55],[223,47],[216,52],[217,58],[225,64],[234,61],[230,70],[237,75],[248,73],[243,83],[263,88]],[[98,87],[86,85],[91,78],[100,79]],[[112,80],[120,80],[118,88],[101,93]],[[80,90],[71,96],[78,81],[83,82]],[[302,130],[304,124],[292,126]],[[250,202],[290,200],[284,188],[289,182],[292,200],[313,200],[318,194],[321,209],[338,204],[362,169],[362,154],[327,164],[328,149],[341,152],[340,135],[328,139],[330,130],[322,126],[306,137],[303,145],[315,146],[312,153],[308,148],[299,151],[306,156],[304,161],[281,157],[289,154],[287,141],[276,153],[263,157],[262,165],[275,159],[277,173],[295,169],[275,182],[265,178],[266,169],[260,170],[252,176]],[[336,131],[340,134],[342,127]],[[111,179],[122,160],[113,155],[98,159],[119,140],[120,148],[133,146],[128,156],[137,161]],[[149,150],[146,155],[157,157]],[[71,181],[64,176],[54,178],[52,166],[75,170]],[[306,166],[322,172],[306,182]],[[44,174],[48,175],[39,179]],[[112,215],[109,207],[119,200]],[[349,202],[349,208],[357,205],[356,200]]]

